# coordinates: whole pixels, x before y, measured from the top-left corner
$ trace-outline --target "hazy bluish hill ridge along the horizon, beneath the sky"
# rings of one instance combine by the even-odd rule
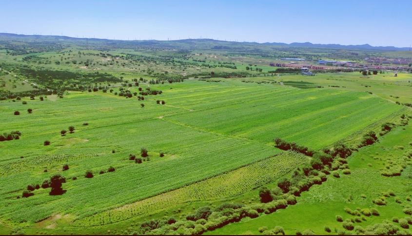
[[[83,42],[86,38],[73,38],[68,36],[45,36],[45,35],[18,35],[9,33],[0,33],[0,39],[12,39],[12,40],[44,40],[49,42],[56,42],[56,40],[67,40],[71,42]],[[314,44],[311,42],[235,42],[235,41],[223,41],[215,39],[180,39],[180,40],[115,40],[115,39],[87,39],[89,43],[104,42],[111,44],[127,44],[127,45],[158,45],[158,46],[181,46],[183,44],[199,44],[209,45],[211,49],[228,50],[232,49],[231,46],[280,46],[280,47],[299,47],[299,48],[328,48],[328,49],[347,49],[347,50],[379,50],[379,51],[409,51],[408,47],[393,47],[393,46],[371,46],[369,44],[362,45],[340,45],[340,44]]]

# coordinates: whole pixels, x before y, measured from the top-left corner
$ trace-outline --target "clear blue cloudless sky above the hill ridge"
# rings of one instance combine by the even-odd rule
[[[0,0],[0,32],[409,47],[411,0]]]

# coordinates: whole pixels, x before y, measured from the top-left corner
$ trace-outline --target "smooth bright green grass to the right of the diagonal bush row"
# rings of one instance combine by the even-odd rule
[[[349,166],[352,174],[341,175],[340,178],[329,177],[322,185],[311,188],[309,192],[298,198],[298,203],[285,210],[274,214],[261,216],[255,219],[233,223],[213,232],[211,235],[255,234],[259,227],[266,226],[269,229],[277,225],[285,229],[286,234],[294,234],[296,231],[311,229],[315,234],[328,234],[324,227],[343,230],[342,223],[335,220],[336,215],[343,219],[354,218],[345,212],[344,208],[376,208],[380,216],[368,216],[360,223],[354,223],[366,227],[383,220],[392,219],[393,216],[403,218],[407,216],[402,212],[405,206],[411,205],[406,200],[411,197],[411,160],[401,176],[384,177],[377,171],[388,157],[403,156],[405,150],[395,148],[396,145],[409,145],[412,140],[412,127],[406,129],[397,128],[384,136],[381,141],[369,147],[361,149],[349,158]],[[411,146],[408,147],[412,151]],[[368,165],[372,164],[372,166]],[[396,197],[386,197],[385,206],[377,206],[372,200],[381,197],[385,192],[393,192],[402,203],[396,202]]]

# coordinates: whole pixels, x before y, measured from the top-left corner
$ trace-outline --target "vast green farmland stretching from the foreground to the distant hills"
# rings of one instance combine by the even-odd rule
[[[340,234],[336,215],[363,228],[407,217],[411,73],[268,65],[333,49],[8,40],[31,52],[0,53],[0,233]],[[55,175],[64,191],[50,195],[40,186]]]

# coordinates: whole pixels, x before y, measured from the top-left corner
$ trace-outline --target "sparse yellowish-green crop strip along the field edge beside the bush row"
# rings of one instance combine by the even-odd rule
[[[153,214],[170,207],[176,208],[186,202],[235,197],[263,184],[272,182],[289,173],[295,166],[301,165],[309,160],[309,157],[302,154],[289,151],[284,152],[183,188],[93,216],[80,218],[75,221],[75,225],[97,226],[110,224],[136,216]]]

